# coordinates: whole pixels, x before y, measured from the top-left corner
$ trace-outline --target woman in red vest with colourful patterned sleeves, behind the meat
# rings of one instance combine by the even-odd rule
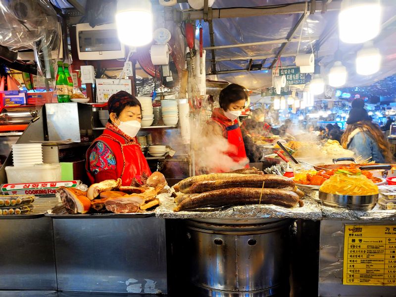
[[[130,186],[143,173],[151,175],[136,135],[141,128],[142,106],[125,91],[112,95],[107,102],[109,120],[103,134],[87,151],[86,170],[91,183],[122,179]]]

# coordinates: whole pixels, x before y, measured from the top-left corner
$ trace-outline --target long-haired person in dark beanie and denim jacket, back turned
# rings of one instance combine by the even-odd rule
[[[355,99],[349,111],[347,128],[341,137],[341,145],[363,159],[371,157],[376,163],[391,163],[393,156],[389,142],[381,129],[369,120],[364,101]]]

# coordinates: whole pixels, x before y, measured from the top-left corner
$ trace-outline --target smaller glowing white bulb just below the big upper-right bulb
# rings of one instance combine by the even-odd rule
[[[380,70],[381,54],[373,47],[371,41],[364,44],[356,55],[356,72],[361,75],[370,75]]]

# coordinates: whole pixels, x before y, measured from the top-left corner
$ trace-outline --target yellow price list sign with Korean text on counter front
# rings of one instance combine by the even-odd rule
[[[345,225],[343,284],[396,286],[396,225]]]

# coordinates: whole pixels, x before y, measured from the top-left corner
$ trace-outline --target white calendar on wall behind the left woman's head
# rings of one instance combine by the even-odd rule
[[[111,95],[125,91],[132,94],[132,84],[129,79],[96,79],[96,96],[98,102],[107,102]]]

